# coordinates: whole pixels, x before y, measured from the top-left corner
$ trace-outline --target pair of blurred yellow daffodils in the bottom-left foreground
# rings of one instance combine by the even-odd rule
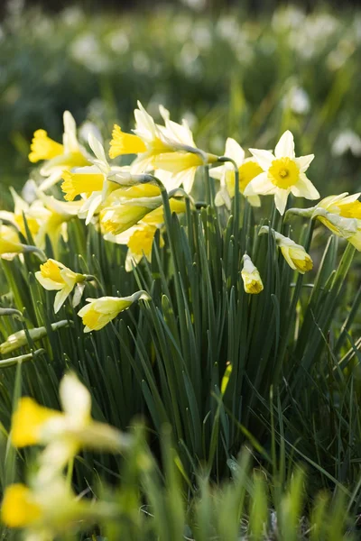
[[[81,523],[114,517],[111,504],[77,496],[65,469],[83,449],[117,454],[132,445],[130,436],[91,418],[90,394],[73,373],[60,382],[60,403],[62,412],[23,397],[12,419],[15,447],[43,447],[29,484],[7,486],[1,507],[3,523],[22,528],[28,541],[49,541]]]

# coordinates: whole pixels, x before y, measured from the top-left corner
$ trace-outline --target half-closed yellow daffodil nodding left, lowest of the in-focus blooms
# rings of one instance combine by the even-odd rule
[[[83,319],[84,332],[99,331],[120,312],[124,312],[141,299],[150,300],[150,297],[145,291],[137,291],[130,297],[87,298],[89,304],[78,312],[78,316]]]

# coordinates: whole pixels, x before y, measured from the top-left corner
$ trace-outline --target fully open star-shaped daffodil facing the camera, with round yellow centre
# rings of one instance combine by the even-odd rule
[[[245,196],[261,194],[274,195],[274,203],[281,215],[284,214],[290,193],[296,197],[318,199],[319,192],[306,177],[314,155],[296,158],[293,135],[290,131],[283,133],[274,149],[270,151],[249,149],[255,156],[263,172],[245,188]]]

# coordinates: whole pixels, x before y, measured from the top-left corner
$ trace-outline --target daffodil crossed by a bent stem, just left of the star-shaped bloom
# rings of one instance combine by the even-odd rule
[[[226,142],[225,156],[236,162],[239,174],[239,191],[244,194],[245,188],[251,180],[255,179],[263,170],[255,159],[248,158],[245,160],[245,151],[231,137],[228,137]],[[235,197],[235,169],[233,163],[226,161],[224,165],[209,170],[209,175],[213,179],[220,180],[220,190],[215,200],[216,205],[226,205],[230,209],[230,198]],[[261,205],[261,200],[257,195],[249,195],[247,199],[252,206]]]

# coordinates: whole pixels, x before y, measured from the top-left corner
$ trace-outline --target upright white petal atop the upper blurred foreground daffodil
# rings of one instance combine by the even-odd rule
[[[75,374],[66,374],[60,381],[60,402],[64,413],[76,426],[84,426],[90,420],[91,399],[88,389]]]

